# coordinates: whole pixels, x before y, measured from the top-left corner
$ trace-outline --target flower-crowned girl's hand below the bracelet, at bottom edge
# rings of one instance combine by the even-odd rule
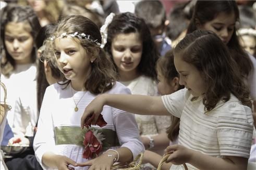
[[[94,169],[110,170],[113,164],[114,164],[114,157],[108,156],[107,153],[104,153],[90,161],[77,163],[78,166],[91,166],[89,170],[94,170]]]

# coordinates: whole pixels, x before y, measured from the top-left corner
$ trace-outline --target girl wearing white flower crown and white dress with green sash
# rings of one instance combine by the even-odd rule
[[[51,40],[65,79],[45,91],[33,144],[36,159],[43,169],[110,169],[115,162],[132,161],[144,150],[133,114],[105,107],[96,125],[89,119],[80,128],[84,108],[97,95],[130,94],[116,82],[100,47],[100,30],[85,17],[69,16]]]

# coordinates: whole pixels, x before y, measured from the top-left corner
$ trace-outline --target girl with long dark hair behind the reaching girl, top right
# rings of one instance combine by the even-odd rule
[[[237,69],[250,89],[250,96],[256,108],[256,59],[246,53],[239,44],[236,34],[239,10],[236,1],[197,1],[193,10],[187,32],[208,30],[221,38],[230,50],[231,57],[236,61]],[[254,110],[254,122],[256,122],[256,110]]]

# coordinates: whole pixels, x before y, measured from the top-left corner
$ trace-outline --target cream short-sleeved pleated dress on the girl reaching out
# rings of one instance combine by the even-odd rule
[[[168,112],[180,117],[178,143],[217,158],[249,158],[253,131],[251,108],[230,95],[227,102],[220,101],[205,113],[202,98],[191,101],[192,97],[188,89],[162,96]],[[172,165],[171,169],[182,169],[182,165]]]

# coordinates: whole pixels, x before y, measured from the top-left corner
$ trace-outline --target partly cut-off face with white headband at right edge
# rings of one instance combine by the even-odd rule
[[[239,38],[240,44],[251,55],[256,54],[256,38],[250,35],[242,35]]]

